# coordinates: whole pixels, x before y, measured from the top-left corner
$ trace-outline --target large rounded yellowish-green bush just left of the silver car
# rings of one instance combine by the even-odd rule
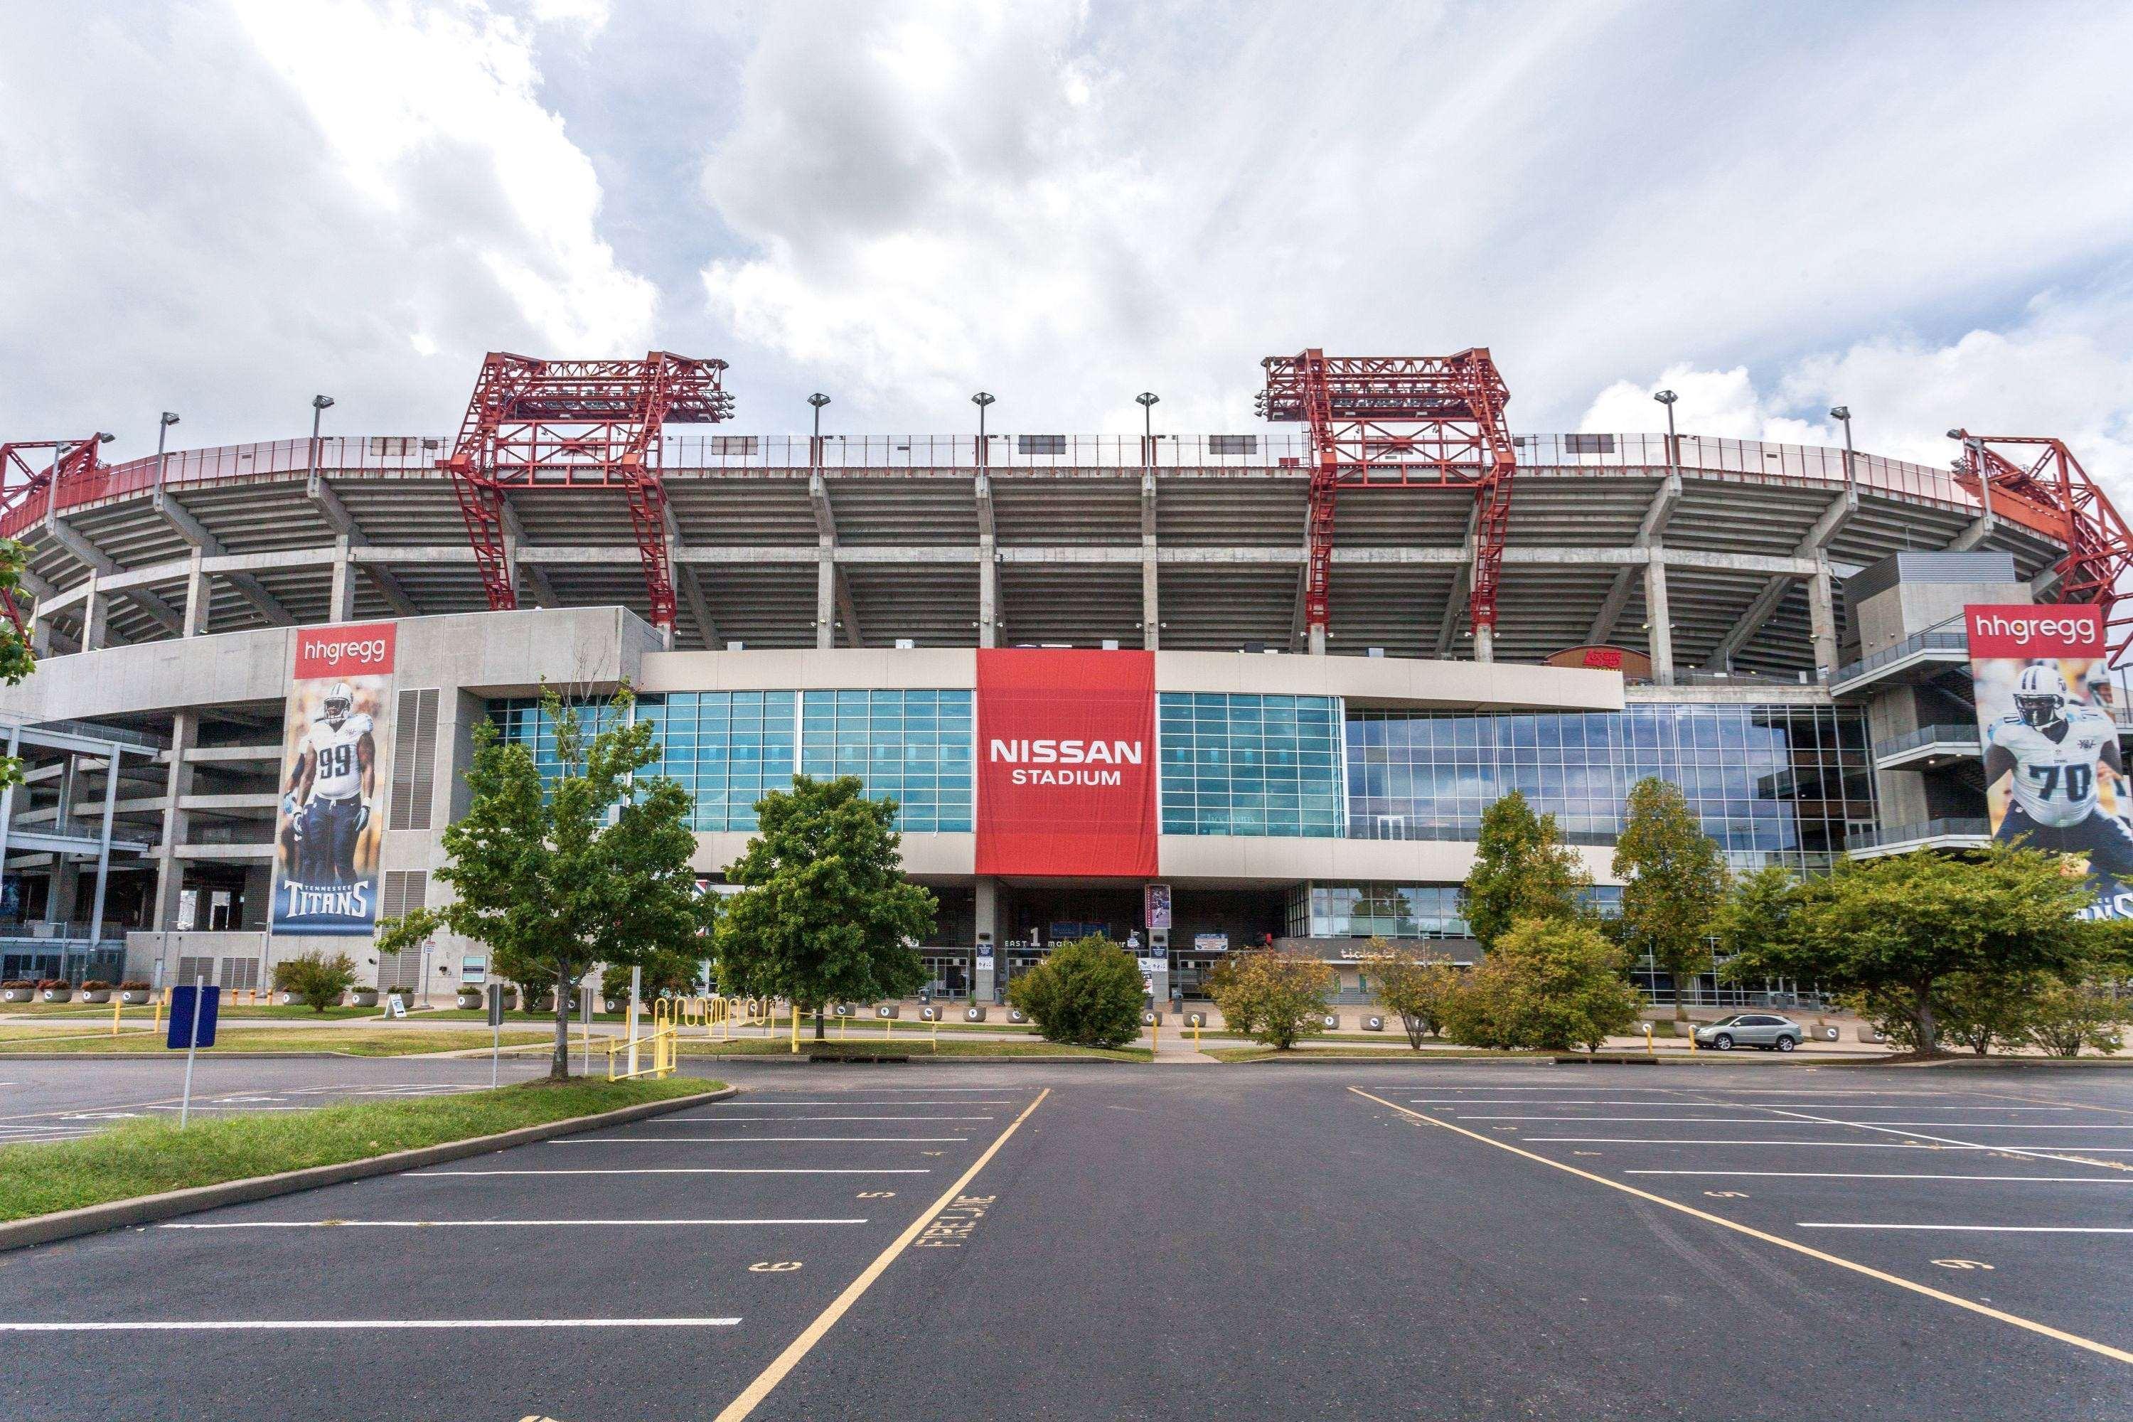
[[[1525,919],[1453,991],[1444,1032],[1465,1047],[1598,1051],[1640,1006],[1621,944],[1581,919]]]

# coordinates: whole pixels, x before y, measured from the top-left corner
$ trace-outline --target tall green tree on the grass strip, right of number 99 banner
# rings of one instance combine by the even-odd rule
[[[593,964],[640,964],[657,953],[700,955],[719,902],[697,893],[689,859],[689,793],[638,780],[659,759],[648,721],[629,721],[623,686],[587,736],[552,689],[559,774],[542,785],[533,753],[488,723],[474,727],[471,804],[444,831],[442,908],[378,925],[378,949],[420,947],[437,930],[488,944],[495,970],[523,987],[555,985],[552,1079],[570,1077],[570,1004]]]

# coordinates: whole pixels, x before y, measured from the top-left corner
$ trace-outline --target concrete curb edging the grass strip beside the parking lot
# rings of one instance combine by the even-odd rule
[[[697,1092],[695,1096],[674,1096],[668,1100],[642,1102],[638,1106],[602,1111],[599,1115],[576,1115],[565,1121],[520,1126],[493,1136],[467,1136],[465,1141],[420,1145],[412,1151],[390,1151],[388,1156],[343,1160],[331,1166],[282,1170],[277,1175],[252,1175],[247,1179],[222,1181],[218,1185],[190,1185],[186,1190],[166,1190],[164,1194],[145,1194],[132,1200],[83,1205],[81,1209],[62,1209],[51,1215],[11,1219],[0,1224],[0,1254],[9,1249],[28,1249],[30,1245],[49,1245],[60,1239],[75,1239],[77,1234],[102,1234],[105,1230],[124,1230],[134,1224],[154,1224],[156,1219],[192,1215],[203,1209],[220,1209],[224,1205],[271,1200],[279,1194],[299,1194],[305,1190],[318,1190],[320,1185],[341,1185],[348,1181],[369,1179],[373,1175],[399,1175],[401,1170],[435,1166],[446,1160],[486,1156],[488,1151],[503,1151],[514,1145],[531,1145],[535,1141],[552,1141],[555,1136],[574,1136],[582,1130],[627,1126],[629,1121],[665,1115],[668,1111],[687,1111],[689,1106],[723,1100],[736,1092],[740,1092],[740,1087],[721,1087],[717,1092]]]

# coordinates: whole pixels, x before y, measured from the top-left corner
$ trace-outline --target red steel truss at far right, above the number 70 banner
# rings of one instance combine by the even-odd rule
[[[2133,644],[2133,595],[2118,586],[2133,567],[2133,531],[2127,520],[2060,439],[1971,435],[1960,429],[1947,433],[1962,441],[1956,484],[1986,499],[1990,482],[1996,518],[2065,542],[2067,556],[2058,561],[2052,599],[2103,608],[2107,659],[2116,665]]]

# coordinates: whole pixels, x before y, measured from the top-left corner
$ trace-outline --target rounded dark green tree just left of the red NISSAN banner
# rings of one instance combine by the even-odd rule
[[[719,919],[719,983],[727,991],[823,1006],[902,998],[926,981],[913,951],[936,900],[904,878],[896,802],[868,799],[857,776],[793,776],[755,802],[759,834],[727,866],[742,885]]]

